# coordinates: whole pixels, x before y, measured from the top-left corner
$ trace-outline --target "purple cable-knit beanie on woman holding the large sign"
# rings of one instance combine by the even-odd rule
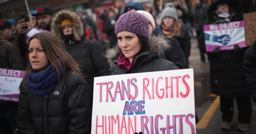
[[[134,10],[129,11],[117,20],[115,24],[115,34],[127,31],[133,34],[149,38],[148,21],[146,17]]]

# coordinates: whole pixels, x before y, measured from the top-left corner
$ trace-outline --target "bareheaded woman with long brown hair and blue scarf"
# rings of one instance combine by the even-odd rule
[[[22,133],[90,133],[91,102],[78,64],[49,32],[30,37],[20,85],[17,123]]]

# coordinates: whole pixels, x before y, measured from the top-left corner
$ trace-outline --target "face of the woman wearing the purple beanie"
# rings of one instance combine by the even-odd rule
[[[141,43],[136,34],[131,32],[122,31],[117,33],[118,46],[121,49],[122,53],[130,62],[133,61],[133,58],[140,52]]]

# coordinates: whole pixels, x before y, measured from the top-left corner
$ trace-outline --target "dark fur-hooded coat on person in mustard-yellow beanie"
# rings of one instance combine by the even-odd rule
[[[69,19],[73,23],[73,40],[65,42],[65,37],[60,30],[63,19]],[[109,75],[109,64],[105,58],[105,51],[100,42],[90,41],[84,37],[84,26],[80,16],[75,12],[62,10],[59,11],[53,22],[52,32],[62,42],[65,50],[80,65],[81,72],[88,87],[90,94],[93,94],[94,77]]]

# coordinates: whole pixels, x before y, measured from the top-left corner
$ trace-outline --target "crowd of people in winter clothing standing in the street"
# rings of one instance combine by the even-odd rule
[[[211,91],[220,96],[220,128],[230,129],[236,99],[236,129],[247,131],[251,98],[256,102],[256,42],[226,51],[217,47],[206,60],[203,29],[204,24],[243,20],[242,2],[194,2],[189,8],[174,0],[162,11],[157,0],[153,6],[135,2],[103,10],[107,51],[95,22],[82,11],[54,14],[40,5],[30,12],[32,24],[0,19],[0,68],[26,70],[18,103],[0,101],[0,121],[8,122],[0,133],[91,133],[94,77],[189,68],[192,26],[201,62],[210,63]]]

